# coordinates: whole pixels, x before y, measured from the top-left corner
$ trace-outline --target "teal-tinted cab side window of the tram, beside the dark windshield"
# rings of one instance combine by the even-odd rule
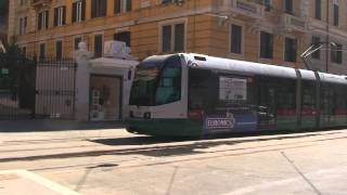
[[[156,91],[156,105],[163,105],[181,100],[181,67],[180,60],[169,58],[162,73]]]

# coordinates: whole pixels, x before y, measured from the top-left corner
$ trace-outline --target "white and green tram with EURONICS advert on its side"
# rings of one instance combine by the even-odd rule
[[[194,53],[145,58],[127,130],[198,136],[347,126],[347,76]]]

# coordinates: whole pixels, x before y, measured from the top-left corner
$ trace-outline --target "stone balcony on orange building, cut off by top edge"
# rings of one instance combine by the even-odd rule
[[[249,0],[229,0],[232,14],[245,20],[259,20],[262,17],[265,6]]]

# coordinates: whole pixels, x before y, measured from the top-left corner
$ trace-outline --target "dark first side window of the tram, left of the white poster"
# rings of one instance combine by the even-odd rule
[[[189,70],[189,109],[213,112],[217,98],[217,75],[208,69]]]

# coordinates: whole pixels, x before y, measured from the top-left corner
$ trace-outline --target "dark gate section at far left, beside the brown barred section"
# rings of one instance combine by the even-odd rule
[[[35,63],[0,53],[0,119],[35,117]]]

